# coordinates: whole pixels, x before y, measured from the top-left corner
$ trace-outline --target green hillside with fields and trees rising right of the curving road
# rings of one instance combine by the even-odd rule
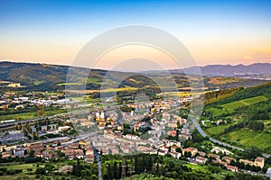
[[[243,148],[271,152],[271,83],[213,92],[201,120],[212,137]],[[217,101],[215,101],[217,99]],[[210,103],[211,102],[211,103]]]

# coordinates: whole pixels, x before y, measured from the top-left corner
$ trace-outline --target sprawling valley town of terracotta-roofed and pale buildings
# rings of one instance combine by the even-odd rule
[[[37,113],[41,114],[40,118],[31,120],[2,121],[2,162],[24,157],[25,162],[39,162],[41,158],[45,162],[81,159],[92,164],[97,161],[97,156],[143,153],[182,159],[192,165],[220,166],[232,172],[243,171],[252,175],[265,169],[265,157],[242,158],[213,142],[210,146],[201,145],[201,149],[188,146],[186,142],[193,139],[196,129],[192,129],[192,121],[187,116],[180,116],[172,110],[178,103],[182,103],[181,108],[187,110],[183,104],[190,101],[190,96],[184,96],[180,102],[155,100],[121,105],[117,111],[112,108],[93,112],[78,110],[71,116],[68,112],[42,116],[44,112],[40,112],[39,107],[44,111],[50,106],[52,109],[64,109],[79,104],[64,99],[60,94],[2,94],[2,109],[22,111],[38,107]],[[59,171],[67,172],[67,169],[71,171],[72,166],[62,166]]]

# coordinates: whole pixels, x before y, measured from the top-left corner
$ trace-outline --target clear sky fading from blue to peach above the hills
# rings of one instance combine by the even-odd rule
[[[100,33],[141,24],[181,40],[200,66],[271,62],[270,7],[268,0],[2,0],[0,60],[71,65],[79,50]],[[117,66],[123,54],[129,58],[129,49],[135,51],[126,47],[108,52],[97,66]],[[142,51],[164,67],[175,67],[155,49]]]

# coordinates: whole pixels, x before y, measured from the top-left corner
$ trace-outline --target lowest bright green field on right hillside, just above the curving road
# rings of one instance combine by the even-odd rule
[[[266,131],[239,129],[222,135],[222,138],[229,139],[231,142],[236,142],[243,147],[255,146],[266,149],[268,153],[271,152],[271,133]]]

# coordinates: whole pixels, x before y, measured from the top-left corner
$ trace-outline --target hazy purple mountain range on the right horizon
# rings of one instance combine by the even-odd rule
[[[183,69],[171,70],[174,73],[188,73],[194,74],[196,67],[189,67]],[[232,76],[254,79],[268,79],[271,80],[271,64],[270,63],[256,63],[252,65],[208,65],[201,67],[203,76]]]

